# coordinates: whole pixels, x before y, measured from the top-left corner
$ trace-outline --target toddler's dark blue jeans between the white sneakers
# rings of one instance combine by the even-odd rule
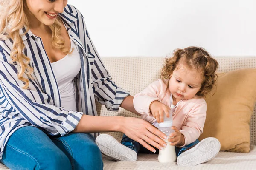
[[[183,153],[187,148],[192,147],[198,143],[199,143],[199,141],[198,141],[198,139],[196,139],[195,142],[192,142],[191,144],[188,144],[184,147],[176,147],[175,146],[176,156],[180,156],[180,154]],[[131,138],[127,137],[125,134],[122,137],[121,144],[134,150],[137,154],[138,153],[153,153],[150,150],[143,147],[139,142],[136,142],[136,141],[132,140]],[[154,146],[152,146],[152,147],[154,147]],[[156,147],[154,147],[154,149],[156,150],[156,153],[158,154],[159,149]]]

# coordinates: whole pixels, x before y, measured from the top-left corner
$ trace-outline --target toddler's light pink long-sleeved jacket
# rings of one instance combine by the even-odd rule
[[[150,113],[149,105],[158,100],[171,108],[171,93],[167,85],[161,79],[152,82],[143,91],[134,96],[134,108],[141,113],[141,118],[154,123],[157,120]],[[192,98],[182,100],[173,113],[173,126],[180,129],[180,133],[185,137],[186,146],[194,142],[203,133],[206,118],[206,102],[203,98]],[[183,147],[180,146],[180,147]]]

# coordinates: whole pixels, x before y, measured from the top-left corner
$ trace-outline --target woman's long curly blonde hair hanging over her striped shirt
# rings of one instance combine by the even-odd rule
[[[0,0],[0,39],[11,39],[13,49],[10,54],[12,62],[16,62],[18,66],[18,79],[24,82],[24,89],[29,87],[29,79],[34,69],[29,66],[30,58],[23,54],[25,45],[20,36],[20,29],[26,27],[29,30],[29,21],[26,14],[26,0]],[[65,54],[72,51],[65,48],[65,41],[61,38],[61,18],[57,17],[55,23],[49,28],[52,31],[52,45],[54,48],[60,49]],[[28,77],[25,78],[24,74]]]

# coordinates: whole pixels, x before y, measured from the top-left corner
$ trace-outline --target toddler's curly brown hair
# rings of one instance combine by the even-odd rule
[[[218,69],[218,62],[211,55],[200,47],[187,47],[184,49],[176,49],[173,57],[166,58],[162,68],[161,79],[168,82],[172,72],[175,70],[179,62],[185,63],[190,69],[195,69],[202,73],[203,83],[197,96],[206,97],[212,90],[218,78],[215,73]]]

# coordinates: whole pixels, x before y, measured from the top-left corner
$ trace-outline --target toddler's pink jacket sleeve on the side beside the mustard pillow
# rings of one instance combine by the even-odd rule
[[[192,108],[191,113],[189,113],[186,122],[181,127],[180,133],[183,134],[185,138],[184,147],[192,142],[195,142],[196,139],[203,133],[204,122],[206,119],[206,109],[207,105],[204,102],[203,104],[197,104]]]

